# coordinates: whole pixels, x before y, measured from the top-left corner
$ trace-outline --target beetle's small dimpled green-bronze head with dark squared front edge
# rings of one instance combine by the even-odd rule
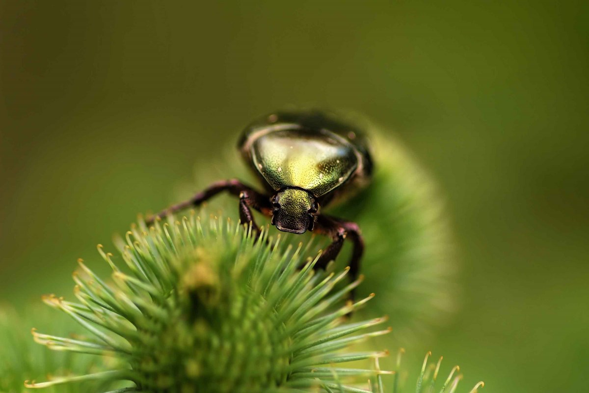
[[[272,225],[283,232],[305,233],[313,230],[317,202],[302,189],[285,189],[272,197]]]

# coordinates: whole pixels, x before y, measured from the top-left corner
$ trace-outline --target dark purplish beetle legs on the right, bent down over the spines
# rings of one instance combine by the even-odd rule
[[[330,260],[334,260],[342,250],[343,241],[349,239],[352,240],[353,243],[352,257],[350,257],[349,262],[350,279],[352,281],[356,280],[360,270],[360,260],[364,253],[364,240],[360,235],[358,224],[338,220],[334,217],[319,215],[317,216],[317,221],[315,223],[314,232],[315,231],[330,236],[333,240],[319,257],[315,267],[325,269],[327,263],[329,263]]]

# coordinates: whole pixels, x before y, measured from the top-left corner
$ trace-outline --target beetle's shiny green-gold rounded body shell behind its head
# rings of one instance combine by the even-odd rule
[[[322,113],[279,113],[246,128],[240,149],[274,191],[299,187],[319,198],[354,177],[368,180],[372,161],[362,141]]]

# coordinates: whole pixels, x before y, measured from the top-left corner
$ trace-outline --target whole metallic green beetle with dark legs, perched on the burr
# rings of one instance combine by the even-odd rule
[[[284,232],[323,233],[333,242],[317,260],[325,269],[342,249],[353,242],[350,274],[358,276],[364,243],[356,223],[319,212],[335,197],[365,186],[372,175],[372,159],[362,132],[318,111],[275,113],[254,121],[243,131],[239,150],[266,193],[239,180],[211,184],[186,202],[169,207],[155,217],[165,217],[228,191],[239,197],[241,223],[259,233],[252,208],[272,217],[272,225]]]

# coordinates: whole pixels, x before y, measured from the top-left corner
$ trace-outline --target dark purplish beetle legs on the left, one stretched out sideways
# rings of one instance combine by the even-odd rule
[[[260,212],[263,209],[271,209],[272,206],[270,205],[270,200],[267,196],[260,194],[256,190],[252,189],[252,187],[247,186],[246,184],[243,184],[241,181],[236,179],[217,181],[203,191],[195,194],[191,199],[174,204],[168,207],[166,210],[151,216],[145,220],[145,223],[150,225],[157,218],[164,218],[168,214],[181,212],[182,210],[186,210],[189,207],[200,206],[200,204],[203,202],[206,202],[223,191],[227,191],[229,194],[239,197],[239,219],[241,220],[241,223],[251,223],[252,229],[256,232],[257,235],[259,235],[260,229],[254,221],[251,208]]]

